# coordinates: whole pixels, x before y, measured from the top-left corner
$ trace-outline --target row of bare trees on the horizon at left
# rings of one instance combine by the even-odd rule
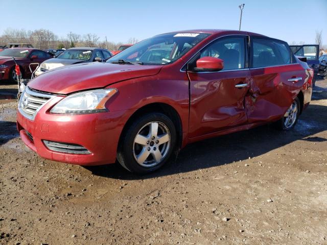
[[[46,50],[48,48],[70,48],[70,47],[102,47],[108,50],[117,50],[122,42],[100,40],[97,34],[87,33],[84,35],[69,32],[66,37],[58,37],[55,33],[46,29],[25,30],[7,28],[0,36],[0,45],[12,42],[30,43],[35,48]],[[126,43],[134,44],[138,40],[134,37]]]

